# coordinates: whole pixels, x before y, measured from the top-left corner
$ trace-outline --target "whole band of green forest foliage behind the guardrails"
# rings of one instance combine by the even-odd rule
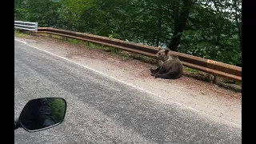
[[[241,66],[241,0],[15,0],[15,20],[168,47]],[[187,2],[190,2],[189,4]],[[190,8],[185,30],[177,31]]]

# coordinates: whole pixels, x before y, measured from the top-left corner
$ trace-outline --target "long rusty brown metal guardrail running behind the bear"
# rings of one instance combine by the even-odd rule
[[[70,30],[38,27],[38,33],[54,34],[66,38],[75,38],[86,42],[93,42],[104,46],[114,47],[120,50],[126,50],[136,54],[146,55],[151,58],[156,58],[155,54],[158,53],[158,47],[155,46],[145,46],[133,42],[118,40],[115,38],[101,37],[98,35],[79,33]],[[170,52],[177,54],[178,58],[182,61],[184,66],[193,68],[195,70],[201,70],[222,78],[228,78],[236,82],[242,82],[242,67],[232,66],[222,62],[216,62],[206,58],[199,58],[190,54],[182,54],[174,51]]]

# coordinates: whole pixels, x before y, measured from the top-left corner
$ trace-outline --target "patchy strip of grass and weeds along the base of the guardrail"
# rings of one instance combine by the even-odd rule
[[[15,32],[15,35],[17,35],[17,37],[29,37],[28,34],[20,34],[19,32]],[[108,47],[108,46],[102,46],[99,44],[95,44],[92,42],[84,42],[81,40],[77,40],[74,38],[64,38],[62,36],[58,36],[58,35],[53,35],[53,34],[38,34],[40,36],[45,36],[45,37],[50,37],[50,38],[57,38],[59,40],[61,40],[62,42],[66,42],[69,43],[71,45],[82,45],[85,46],[86,49],[90,49],[90,50],[103,50],[106,51],[110,54],[113,54],[115,56],[118,56],[119,58],[122,58],[122,60],[126,61],[126,60],[133,60],[136,59],[138,61],[141,62],[146,62],[146,63],[150,63],[150,64],[157,64],[157,61],[154,58],[149,58],[146,57],[144,55],[141,54],[134,54],[134,53],[130,53],[124,50],[118,50],[115,49],[113,47]],[[200,70],[194,70],[190,67],[186,67],[184,66],[184,71],[183,71],[184,75],[190,77],[190,78],[195,78],[198,79],[200,81],[204,81],[204,82],[213,82],[214,80],[214,75],[212,74],[207,74],[205,72],[202,72]],[[234,88],[233,85],[238,85],[238,86],[242,86],[241,82],[234,82],[232,80],[226,79],[226,78],[219,78],[218,77],[218,81],[220,82],[224,82],[226,84],[231,84],[232,86],[226,86],[225,84],[221,84],[219,86],[222,86],[224,88],[230,89],[230,90],[235,90],[235,91],[241,91],[242,88]]]

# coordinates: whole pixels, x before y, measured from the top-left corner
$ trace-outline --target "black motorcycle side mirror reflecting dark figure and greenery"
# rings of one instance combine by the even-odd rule
[[[64,98],[38,98],[26,103],[18,118],[28,132],[46,130],[63,122],[66,114]]]

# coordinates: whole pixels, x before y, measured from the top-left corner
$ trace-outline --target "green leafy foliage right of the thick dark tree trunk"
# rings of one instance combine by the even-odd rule
[[[214,6],[198,5],[190,13],[179,50],[239,66],[242,58],[239,30],[235,20],[230,19],[230,13],[226,12],[231,4],[228,5],[229,1],[211,2]]]

